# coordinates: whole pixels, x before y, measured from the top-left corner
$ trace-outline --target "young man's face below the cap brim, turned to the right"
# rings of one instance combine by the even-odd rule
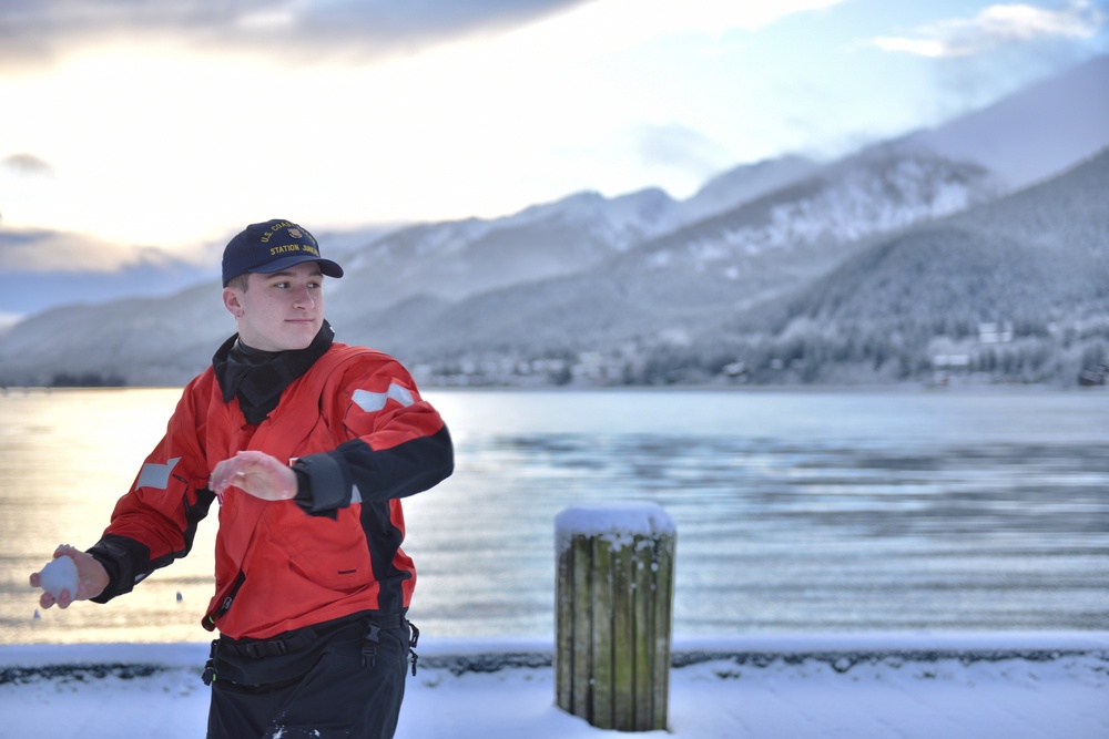
[[[315,261],[247,275],[248,289],[226,287],[223,302],[243,343],[263,351],[304,349],[324,322],[324,276]]]

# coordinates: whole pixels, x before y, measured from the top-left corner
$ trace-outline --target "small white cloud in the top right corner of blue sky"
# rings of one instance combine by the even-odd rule
[[[1106,23],[1106,13],[1088,0],[1075,0],[1061,10],[1027,3],[994,4],[974,18],[920,27],[906,37],[879,37],[884,51],[918,57],[973,57],[993,49],[1044,39],[1088,39]]]

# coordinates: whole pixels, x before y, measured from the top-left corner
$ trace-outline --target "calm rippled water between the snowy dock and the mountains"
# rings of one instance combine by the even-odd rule
[[[106,606],[35,618],[177,390],[0,396],[0,643],[206,640],[215,521]],[[455,476],[406,503],[428,635],[548,636],[553,520],[652,501],[678,526],[674,633],[1109,629],[1109,393],[444,391]]]

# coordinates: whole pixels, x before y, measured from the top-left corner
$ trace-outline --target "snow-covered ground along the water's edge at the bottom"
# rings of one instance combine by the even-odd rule
[[[549,643],[420,646],[398,739],[615,735],[554,708]],[[206,650],[0,646],[0,737],[203,737]],[[670,733],[642,736],[1109,737],[1109,633],[679,639],[674,657]]]

